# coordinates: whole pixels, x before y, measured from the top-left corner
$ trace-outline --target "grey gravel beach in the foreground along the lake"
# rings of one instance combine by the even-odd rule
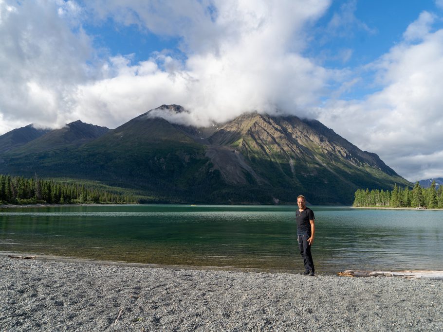
[[[0,331],[443,331],[443,281],[0,256]]]

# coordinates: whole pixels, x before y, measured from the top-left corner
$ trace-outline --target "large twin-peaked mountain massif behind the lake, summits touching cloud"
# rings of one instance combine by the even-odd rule
[[[359,188],[411,185],[318,121],[249,113],[197,128],[166,120],[183,112],[162,105],[50,153],[55,143],[37,148],[42,136],[2,154],[0,173],[96,180],[174,203],[294,203],[305,194],[310,204],[351,204]]]

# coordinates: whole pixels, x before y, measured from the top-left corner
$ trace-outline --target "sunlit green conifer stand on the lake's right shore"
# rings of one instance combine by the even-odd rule
[[[443,185],[437,189],[435,181],[429,188],[417,181],[412,189],[397,185],[392,191],[358,189],[354,196],[354,207],[443,209]]]

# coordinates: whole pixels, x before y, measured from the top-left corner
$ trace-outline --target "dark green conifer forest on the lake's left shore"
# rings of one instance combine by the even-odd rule
[[[0,175],[0,204],[140,203],[140,197],[81,181]]]

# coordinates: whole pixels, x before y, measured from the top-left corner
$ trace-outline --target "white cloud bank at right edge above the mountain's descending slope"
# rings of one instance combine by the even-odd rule
[[[429,32],[428,22],[422,13],[404,40],[369,66],[378,92],[319,110],[320,121],[411,181],[443,174],[443,30]]]

